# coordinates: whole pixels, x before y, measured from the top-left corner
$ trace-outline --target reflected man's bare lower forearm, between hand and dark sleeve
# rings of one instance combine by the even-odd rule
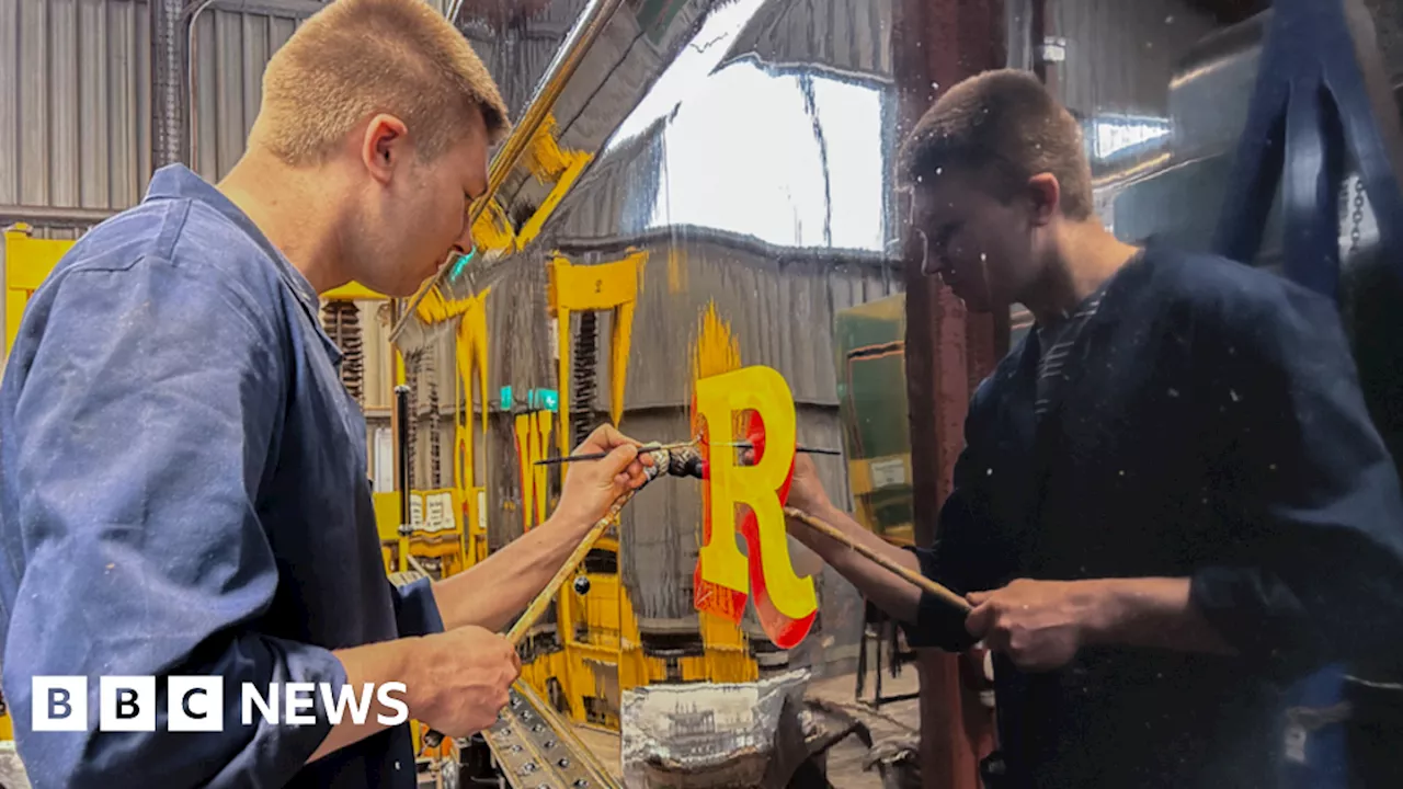
[[[1089,644],[1235,654],[1190,599],[1188,578],[1079,581],[1099,601],[1086,628]]]

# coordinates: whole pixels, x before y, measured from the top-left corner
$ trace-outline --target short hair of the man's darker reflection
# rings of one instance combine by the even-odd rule
[[[940,168],[978,170],[1003,199],[1051,173],[1065,216],[1087,219],[1094,208],[1082,126],[1028,72],[976,74],[926,111],[902,146],[901,177],[920,183]]]

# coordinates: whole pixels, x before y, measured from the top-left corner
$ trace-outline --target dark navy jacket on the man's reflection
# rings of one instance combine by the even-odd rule
[[[1016,578],[1190,578],[1233,657],[1094,646],[995,667],[1017,789],[1280,785],[1287,691],[1397,654],[1403,494],[1334,303],[1222,258],[1149,248],[1063,348],[1035,417],[1030,333],[975,393],[922,570],[961,592]],[[925,595],[912,643],[962,650]]]

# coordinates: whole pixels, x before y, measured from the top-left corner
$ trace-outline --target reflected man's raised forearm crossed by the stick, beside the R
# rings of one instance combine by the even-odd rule
[[[824,507],[821,511],[810,512],[810,515],[836,526],[850,541],[861,543],[873,552],[901,563],[904,567],[920,571],[920,563],[909,550],[902,550],[864,529],[842,510]],[[897,619],[905,622],[916,621],[916,609],[920,605],[920,590],[909,581],[857,553],[852,546],[843,545],[803,524],[791,525],[790,532],[814,553],[818,553],[824,562],[838,570],[840,576],[857,587],[857,591],[863,597],[871,599],[878,608]]]

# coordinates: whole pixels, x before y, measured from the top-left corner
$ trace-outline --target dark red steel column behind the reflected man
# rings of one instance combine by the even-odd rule
[[[901,138],[943,88],[1003,66],[1005,35],[1002,0],[899,0],[892,49]],[[1009,314],[968,313],[920,274],[920,247],[909,227],[902,233],[915,531],[920,545],[930,545],[964,446],[969,396],[1007,350]],[[979,668],[940,651],[922,654],[918,668],[923,786],[979,789],[978,764],[993,747],[993,719],[971,681]]]

